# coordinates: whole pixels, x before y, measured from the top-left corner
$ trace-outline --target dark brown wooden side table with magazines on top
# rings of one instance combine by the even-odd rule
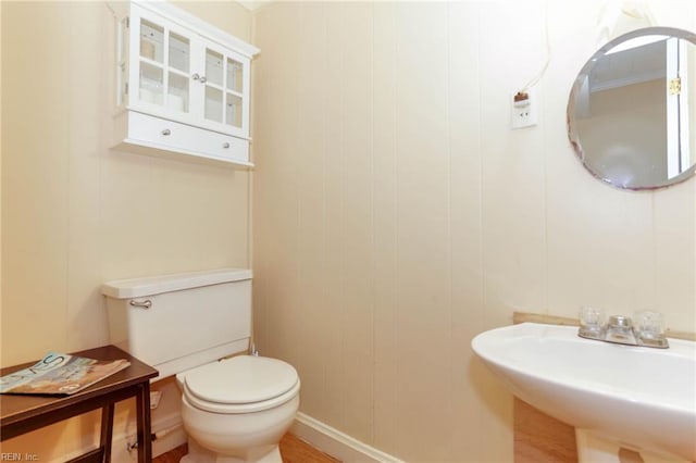
[[[127,359],[130,365],[72,396],[0,396],[0,441],[101,409],[101,437],[99,448],[71,462],[109,463],[113,434],[114,404],[136,398],[138,463],[152,461],[150,428],[150,378],[157,370],[140,362],[115,346],[74,352],[75,355],[98,360]],[[0,376],[26,368],[36,362],[0,370]]]

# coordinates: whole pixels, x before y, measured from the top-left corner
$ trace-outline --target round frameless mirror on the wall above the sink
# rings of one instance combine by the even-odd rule
[[[696,168],[696,35],[671,27],[625,34],[582,68],[568,136],[583,165],[618,188],[661,188]]]

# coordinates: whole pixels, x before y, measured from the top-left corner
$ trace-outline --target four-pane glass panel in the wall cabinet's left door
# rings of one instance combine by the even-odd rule
[[[188,38],[141,18],[138,100],[188,113],[190,54]]]

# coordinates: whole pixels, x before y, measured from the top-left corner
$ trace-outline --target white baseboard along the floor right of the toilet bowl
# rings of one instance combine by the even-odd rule
[[[290,433],[344,463],[403,463],[301,412],[297,414]]]

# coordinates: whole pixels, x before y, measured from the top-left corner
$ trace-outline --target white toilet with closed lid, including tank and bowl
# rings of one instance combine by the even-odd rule
[[[110,281],[111,343],[176,375],[186,463],[281,462],[299,408],[295,368],[239,354],[251,337],[251,271],[224,268]],[[224,360],[220,360],[223,359]]]

